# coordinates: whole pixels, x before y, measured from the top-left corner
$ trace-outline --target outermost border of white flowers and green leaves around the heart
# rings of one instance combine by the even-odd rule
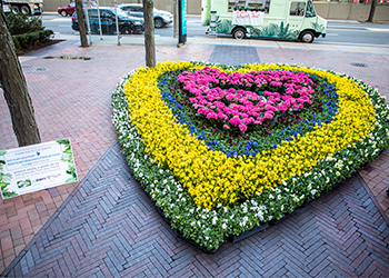
[[[199,63],[192,62],[192,64]],[[163,68],[163,63],[159,66]],[[285,64],[269,67],[285,67]],[[245,66],[228,69],[245,69]],[[240,205],[233,207],[219,205],[212,209],[199,208],[183,187],[176,181],[174,175],[147,155],[141,136],[131,125],[124,85],[139,70],[121,79],[112,95],[112,121],[117,128],[122,152],[137,180],[170,220],[171,227],[207,250],[216,250],[231,235],[238,236],[255,226],[282,218],[305,201],[317,198],[333,185],[350,177],[389,147],[389,108],[385,103],[385,98],[361,80],[341,75],[366,91],[373,105],[376,122],[368,136],[350,143],[346,149],[330,153],[310,171],[282,180],[281,186],[263,190],[262,193],[255,195]]]

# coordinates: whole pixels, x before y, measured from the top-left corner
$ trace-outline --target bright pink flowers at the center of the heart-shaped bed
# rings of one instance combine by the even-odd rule
[[[312,103],[313,81],[303,72],[283,70],[233,72],[206,67],[178,77],[198,113],[226,129],[275,121],[277,115],[300,112]]]

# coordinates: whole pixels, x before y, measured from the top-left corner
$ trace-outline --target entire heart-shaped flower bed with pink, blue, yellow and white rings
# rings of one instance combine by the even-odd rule
[[[137,179],[207,249],[320,196],[389,145],[375,89],[303,67],[163,62],[127,76],[112,99]]]

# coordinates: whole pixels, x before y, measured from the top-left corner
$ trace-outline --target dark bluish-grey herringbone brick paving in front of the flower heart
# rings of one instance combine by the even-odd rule
[[[389,228],[358,177],[277,226],[205,254],[179,238],[116,142],[8,277],[388,277]]]

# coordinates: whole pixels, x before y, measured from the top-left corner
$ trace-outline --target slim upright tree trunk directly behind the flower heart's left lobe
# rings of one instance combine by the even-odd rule
[[[143,0],[146,66],[156,67],[154,19],[152,0]]]

